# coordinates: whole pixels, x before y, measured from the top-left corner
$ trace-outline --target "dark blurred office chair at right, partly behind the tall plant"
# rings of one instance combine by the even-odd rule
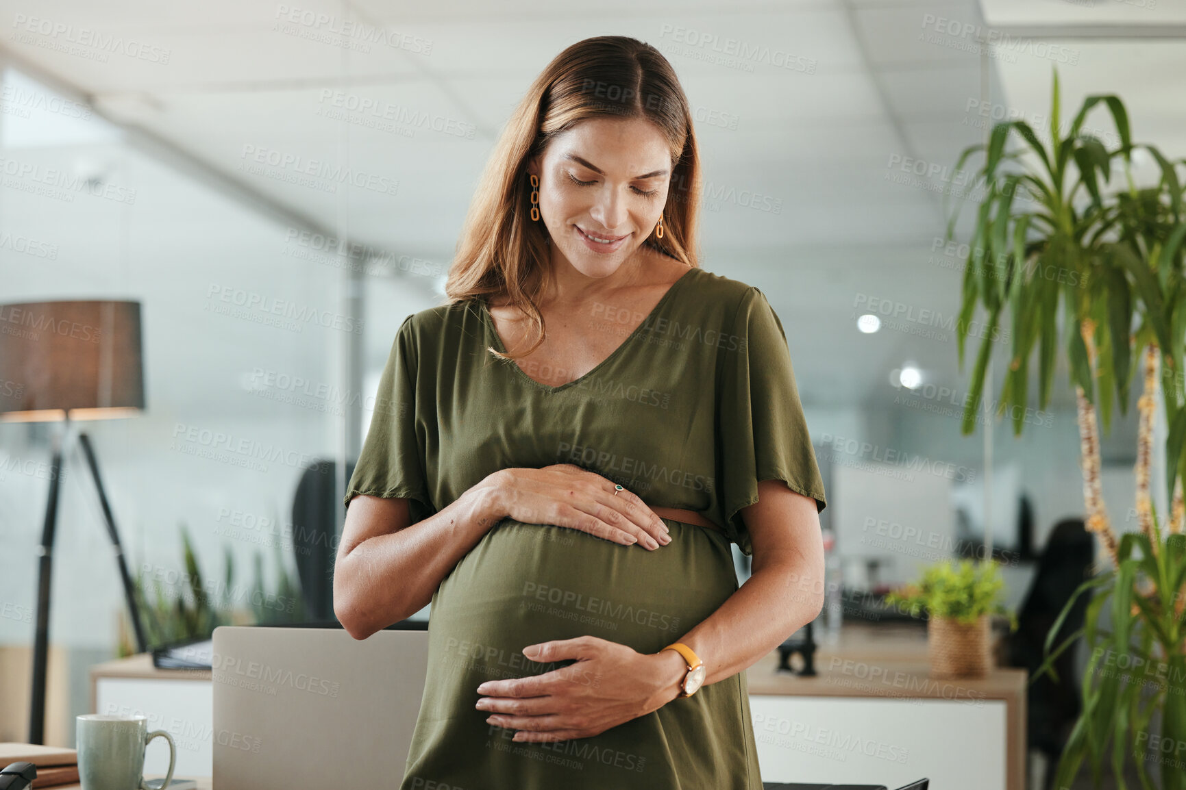
[[[1031,676],[1045,660],[1046,635],[1075,590],[1091,577],[1095,542],[1083,519],[1063,519],[1054,525],[1046,548],[1038,560],[1033,584],[1018,612],[1018,630],[1006,641],[1006,661],[1024,667]],[[1089,597],[1079,596],[1054,637],[1054,646],[1083,627]],[[1079,679],[1075,670],[1075,649],[1054,661],[1059,681],[1048,675],[1031,683],[1026,693],[1026,741],[1029,750],[1047,760],[1044,788],[1053,781],[1053,765],[1066,745],[1080,712]]]

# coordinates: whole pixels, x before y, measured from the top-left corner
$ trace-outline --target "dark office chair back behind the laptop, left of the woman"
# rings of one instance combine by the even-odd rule
[[[346,463],[346,480],[355,462]],[[337,621],[333,615],[333,560],[338,525],[333,489],[337,463],[318,460],[305,468],[293,495],[293,553],[300,577],[305,616],[310,621]]]

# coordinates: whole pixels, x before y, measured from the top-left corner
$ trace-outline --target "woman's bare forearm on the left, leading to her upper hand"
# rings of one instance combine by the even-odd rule
[[[484,482],[422,521],[342,546],[333,578],[338,619],[366,638],[420,611],[502,518]]]

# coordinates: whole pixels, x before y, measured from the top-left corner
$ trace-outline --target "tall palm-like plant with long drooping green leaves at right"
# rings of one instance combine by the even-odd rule
[[[1093,108],[1107,108],[1111,115],[1115,148],[1083,133],[1084,120]],[[1112,567],[1085,582],[1067,603],[1051,629],[1046,663],[1035,674],[1035,679],[1045,672],[1053,675],[1053,659],[1085,640],[1090,660],[1082,683],[1083,712],[1063,751],[1056,784],[1069,786],[1086,757],[1097,781],[1103,759],[1110,759],[1123,788],[1123,769],[1131,758],[1143,785],[1153,788],[1147,764],[1158,759],[1161,789],[1181,790],[1186,788],[1186,771],[1173,759],[1161,760],[1156,750],[1165,743],[1186,743],[1186,535],[1181,488],[1186,467],[1186,218],[1177,169],[1184,160],[1172,162],[1154,146],[1134,144],[1128,113],[1117,96],[1086,97],[1065,136],[1059,109],[1056,70],[1048,143],[1025,121],[1009,121],[995,124],[986,144],[967,148],[958,160],[957,169],[973,154],[983,153],[976,176],[986,195],[976,212],[964,270],[957,322],[959,366],[963,370],[963,341],[977,308],[988,313],[990,328],[1002,320],[1012,322],[1008,370],[996,413],[1012,413],[1014,435],[1020,435],[1034,347],[1039,349],[1038,397],[1045,409],[1059,357],[1059,335],[1066,338],[1086,527]],[[1018,144],[1010,148],[1010,142]],[[1156,163],[1156,184],[1137,186],[1134,181],[1131,160],[1139,150]],[[1123,174],[1123,182],[1114,186],[1117,173]],[[961,199],[948,226],[949,239],[962,206]],[[994,334],[984,335],[973,367],[964,433],[975,428],[991,354],[989,338]],[[1129,390],[1136,378],[1143,386],[1137,403],[1134,470],[1139,528],[1117,539],[1104,509],[1097,415],[1108,431],[1115,406],[1127,413]],[[1165,528],[1149,495],[1159,383],[1169,428],[1165,474],[1171,506]],[[1053,635],[1078,596],[1085,593],[1092,597],[1084,627],[1056,647]],[[1101,625],[1105,606],[1111,616],[1110,629]],[[1149,667],[1156,668],[1153,679],[1148,676]]]

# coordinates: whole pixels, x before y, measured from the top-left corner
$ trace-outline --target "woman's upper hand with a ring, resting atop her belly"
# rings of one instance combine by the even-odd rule
[[[512,467],[487,479],[498,492],[504,518],[550,524],[630,546],[650,550],[671,542],[668,526],[637,495],[595,471],[570,463],[541,469]]]

